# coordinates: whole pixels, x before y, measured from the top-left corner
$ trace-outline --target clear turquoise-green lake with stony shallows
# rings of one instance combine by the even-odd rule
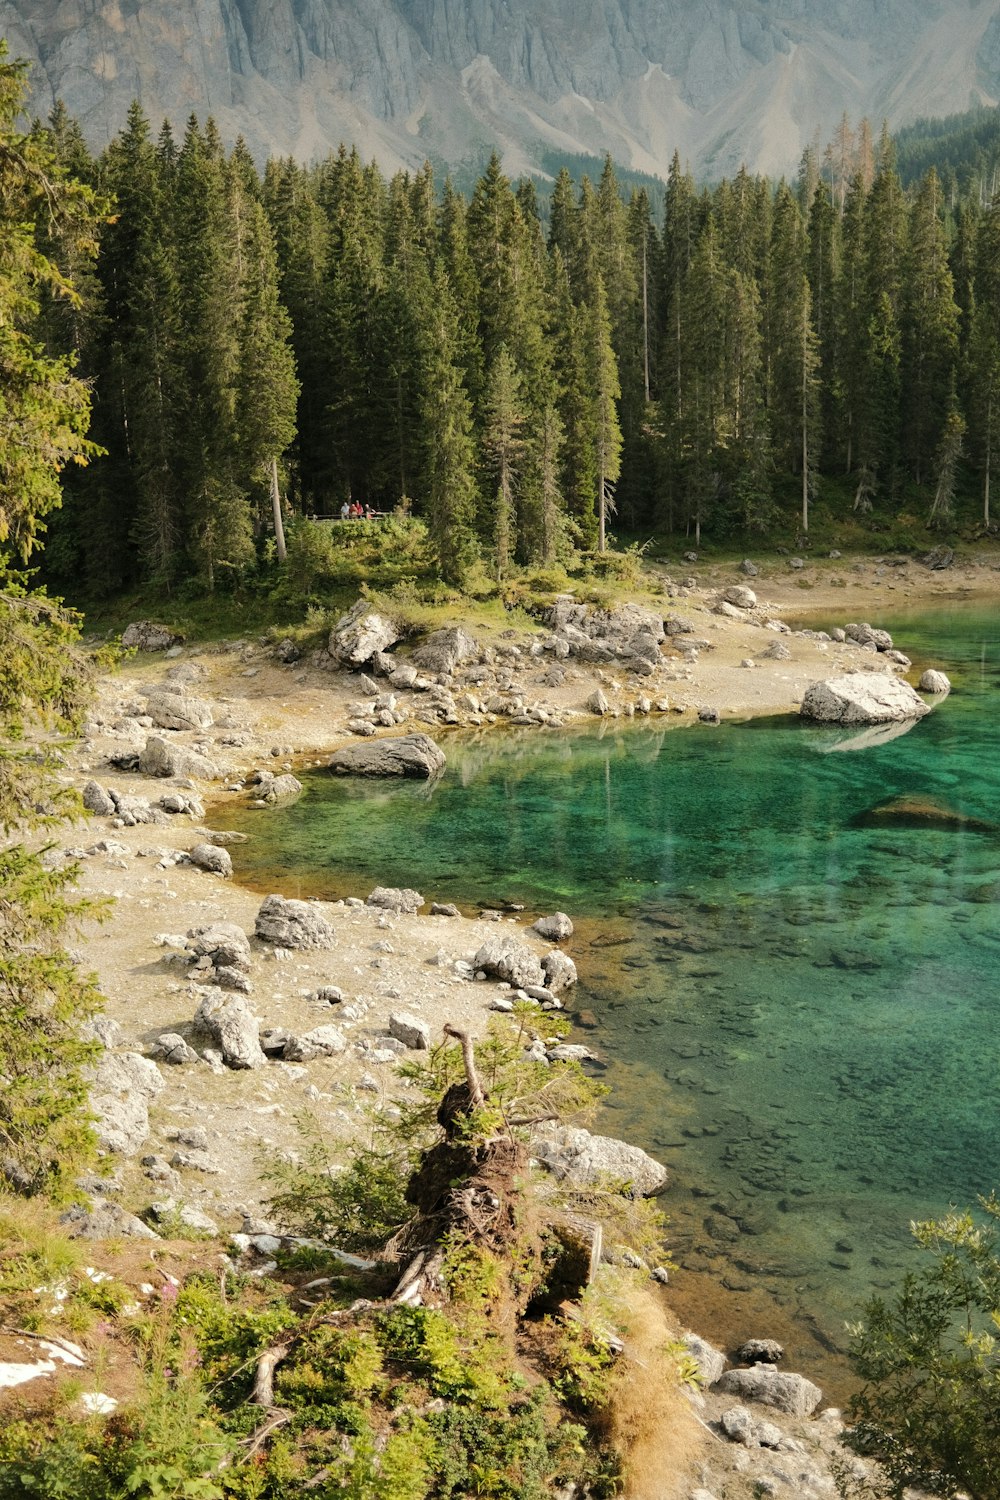
[[[873,748],[795,717],[454,735],[436,786],[316,774],[237,850],[289,896],[570,912],[597,1128],[670,1167],[681,1311],[834,1371],[909,1221],[1000,1188],[1000,621],[876,622],[954,692]],[[897,796],[988,826],[867,825]]]

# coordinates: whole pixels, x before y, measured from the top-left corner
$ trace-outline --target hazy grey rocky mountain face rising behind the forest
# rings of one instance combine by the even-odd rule
[[[846,111],[904,124],[1000,98],[990,0],[0,0],[93,146],[138,98],[154,124],[309,160],[340,141],[384,166],[511,172],[601,156],[664,176],[783,172]]]

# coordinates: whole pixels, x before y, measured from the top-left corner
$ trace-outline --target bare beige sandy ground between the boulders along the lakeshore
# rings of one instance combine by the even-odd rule
[[[681,728],[691,723],[700,708],[715,708],[723,718],[795,711],[808,682],[873,664],[871,656],[862,656],[856,646],[769,630],[765,620],[808,616],[825,626],[849,621],[879,626],[894,612],[943,604],[949,598],[1000,594],[1000,558],[993,556],[945,573],[933,573],[919,562],[895,567],[847,560],[807,566],[802,572],[787,566],[762,568],[759,578],[744,578],[733,566],[682,564],[675,576],[681,573],[694,580],[693,586],[664,588],[663,614],[687,618],[696,639],[709,645],[691,660],[684,656],[684,636],[667,640],[663,666],[654,680],[616,675],[613,664],[600,669],[568,663],[565,681],[549,686],[538,675],[546,663],[531,658],[525,632],[513,640],[507,633],[496,633],[486,644],[501,651],[520,644],[522,663],[504,658],[507,678],[526,702],[547,705],[556,723],[576,728],[595,723],[585,705],[601,687],[618,712],[628,712],[630,705],[634,712],[640,696],[654,702],[666,699],[670,708],[666,712],[654,708],[652,717],[663,726]],[[733,584],[748,584],[756,591],[760,618],[735,620],[714,612],[720,591]],[[649,596],[643,602],[649,603]],[[763,650],[775,640],[784,644],[787,658],[763,657]],[[906,640],[898,645],[906,650]],[[756,664],[745,668],[741,664],[745,660]],[[921,669],[934,664],[933,660],[915,662],[907,675],[915,680]],[[109,764],[112,756],[141,750],[150,734],[163,734],[142,722],[145,694],[171,675],[183,692],[210,704],[213,723],[202,730],[166,730],[165,738],[210,758],[220,772],[219,780],[190,786],[175,778],[123,772]],[[484,688],[478,692],[484,696]],[[325,752],[354,742],[346,723],[360,696],[357,674],[331,672],[309,662],[280,664],[273,646],[256,642],[204,650],[195,644],[172,658],[136,657],[100,682],[85,738],[66,756],[66,782],[82,788],[96,780],[102,788],[112,786],[123,795],[151,802],[180,790],[199,796],[208,808],[204,818],[166,814],[160,822],[135,826],[115,826],[117,819],[94,816],[64,831],[63,850],[70,858],[82,855],[81,892],[114,898],[108,922],[87,928],[75,948],[84,968],[97,974],[108,998],[106,1014],[120,1026],[120,1048],[145,1050],[168,1030],[190,1034],[204,990],[190,978],[187,964],[171,957],[178,952],[177,940],[190,928],[229,921],[253,932],[259,892],[183,858],[175,862],[178,855],[202,842],[199,828],[216,826],[213,814],[220,804],[247,801],[246,789],[228,792],[223,788],[235,786],[255,770],[280,772],[285,766],[322,764]],[[424,702],[426,694],[417,693],[403,699],[409,717],[385,732],[429,732],[447,752],[450,730],[435,729],[427,722]],[[483,729],[496,723],[501,732],[504,726],[498,714],[468,711],[462,717]],[[558,729],[540,726],[537,732],[550,735]],[[52,858],[60,856],[66,855],[54,850]],[[385,870],[381,879],[393,885],[394,872]],[[291,874],[286,885],[277,882],[276,888],[285,896],[297,894]],[[352,894],[364,902],[369,892]],[[432,902],[436,892],[421,894]],[[141,1152],[130,1158],[108,1156],[102,1168],[117,1182],[121,1200],[130,1208],[169,1191],[177,1200],[210,1214],[222,1228],[238,1228],[243,1214],[261,1214],[261,1166],[300,1146],[297,1116],[315,1113],[331,1137],[346,1143],[366,1130],[372,1104],[387,1112],[394,1108],[403,1084],[393,1062],[373,1062],[370,1053],[358,1050],[366,1046],[378,1050],[393,1011],[403,1010],[426,1022],[432,1042],[441,1038],[445,1022],[469,1026],[474,1034],[484,1030],[498,987],[471,984],[454,966],[468,963],[478,946],[498,933],[495,922],[475,916],[385,914],[343,902],[319,904],[334,927],[336,946],[276,957],[268,945],[255,944],[249,1002],[262,1026],[301,1034],[336,1023],[348,1038],[346,1052],[303,1064],[273,1062],[256,1071],[211,1071],[204,1064],[162,1065],[165,1088],[150,1106],[150,1134]],[[502,930],[516,930],[541,954],[549,945],[526,932],[537,915],[507,916]],[[165,936],[177,940],[163,944]],[[573,939],[564,946],[573,957]],[[322,986],[343,990],[357,1018],[343,1023],[336,1008],[312,999]],[[543,1017],[538,1029],[546,1034]],[[600,1038],[585,1040],[600,1047]],[[207,1160],[213,1170],[180,1166],[169,1168],[172,1176],[150,1180],[139,1158],[156,1155],[165,1164],[177,1149],[175,1132],[192,1126],[207,1134]],[[684,1299],[684,1312],[700,1328],[699,1296],[693,1292]],[[709,1308],[703,1311],[708,1318]],[[759,1314],[766,1317],[763,1304]],[[781,1330],[763,1328],[760,1332]]]

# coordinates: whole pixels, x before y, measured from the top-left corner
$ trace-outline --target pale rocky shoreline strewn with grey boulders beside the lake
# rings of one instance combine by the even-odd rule
[[[901,584],[898,572],[888,588]],[[204,651],[159,642],[159,654],[100,684],[64,768],[67,783],[85,788],[91,819],[49,855],[79,861],[84,894],[115,900],[108,926],[78,945],[108,996],[94,1083],[108,1155],[90,1184],[106,1214],[94,1233],[115,1220],[121,1233],[120,1204],[142,1200],[163,1218],[189,1215],[201,1232],[259,1228],[259,1164],[295,1149],[295,1114],[321,1112],[349,1138],[372,1101],[396,1107],[397,1058],[445,1023],[475,1030],[490,1010],[523,998],[538,1006],[538,1056],[559,1054],[544,1014],[576,978],[562,914],[534,930],[502,910],[420,915],[421,892],[393,888],[261,904],[228,879],[232,836],[205,826],[210,800],[294,796],[295,770],[334,754],[337,740],[346,770],[357,771],[358,752],[384,756],[385,740],[402,735],[424,760],[399,774],[439,774],[420,741],[433,746],[436,732],[447,752],[453,726],[550,730],[636,714],[714,722],[787,711],[819,678],[886,668],[901,678],[910,666],[886,660],[895,648],[865,639],[871,627],[843,640],[792,632],[745,582],[690,579],[663,591],[661,606],[604,612],[558,600],[534,636],[484,642],[454,627],[409,654],[393,651],[361,602],[307,663],[285,642]],[[577,1140],[577,1156],[600,1140]],[[538,1158],[552,1167],[568,1150],[549,1142]],[[696,1335],[688,1347],[709,1388],[694,1401],[712,1440],[700,1476],[676,1492],[832,1494],[840,1418],[813,1416],[816,1388],[766,1360],[717,1384],[724,1356]]]

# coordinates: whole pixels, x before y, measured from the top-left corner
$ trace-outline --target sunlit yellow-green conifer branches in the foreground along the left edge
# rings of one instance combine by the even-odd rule
[[[61,220],[78,248],[96,243],[93,195],[58,166],[51,144],[22,135],[22,64],[0,42],[0,1176],[21,1191],[58,1190],[93,1146],[84,1066],[96,1047],[79,1026],[99,1008],[91,980],[63,948],[84,915],[67,894],[75,870],[48,868],[15,834],[70,812],[48,765],[24,744],[28,723],[69,732],[87,700],[90,668],[76,622],[16,567],[39,546],[60,502],[60,471],[94,454],[88,398],[72,356],[45,352],[36,324],[43,296],[76,292],[39,249]]]

